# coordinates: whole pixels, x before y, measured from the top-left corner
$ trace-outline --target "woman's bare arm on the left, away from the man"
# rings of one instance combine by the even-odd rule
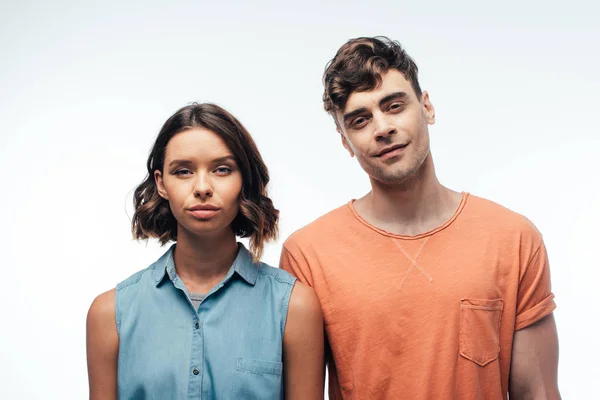
[[[96,297],[88,311],[86,331],[90,400],[116,400],[119,336],[115,289]]]

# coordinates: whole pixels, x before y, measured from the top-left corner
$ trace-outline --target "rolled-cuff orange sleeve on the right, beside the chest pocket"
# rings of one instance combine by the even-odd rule
[[[520,273],[515,330],[544,318],[556,308],[550,287],[550,267],[543,241]]]

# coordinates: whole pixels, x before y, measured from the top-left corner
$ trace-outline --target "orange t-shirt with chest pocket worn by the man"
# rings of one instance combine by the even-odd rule
[[[331,400],[506,399],[514,332],[555,308],[538,230],[468,193],[417,236],[350,202],[290,236],[281,268],[321,302]]]

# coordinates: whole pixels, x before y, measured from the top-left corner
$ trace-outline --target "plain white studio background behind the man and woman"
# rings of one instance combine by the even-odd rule
[[[163,252],[131,239],[129,216],[179,107],[216,102],[256,139],[281,210],[272,265],[290,233],[364,194],[322,109],[321,74],[346,40],[377,34],[417,61],[440,180],[544,234],[563,398],[600,398],[599,7],[215,3],[0,5],[0,398],[87,396],[90,303]]]

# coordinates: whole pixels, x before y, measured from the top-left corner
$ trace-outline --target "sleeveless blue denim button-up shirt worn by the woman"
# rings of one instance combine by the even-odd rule
[[[239,245],[194,309],[175,245],[117,285],[119,399],[283,399],[282,343],[295,278]]]

